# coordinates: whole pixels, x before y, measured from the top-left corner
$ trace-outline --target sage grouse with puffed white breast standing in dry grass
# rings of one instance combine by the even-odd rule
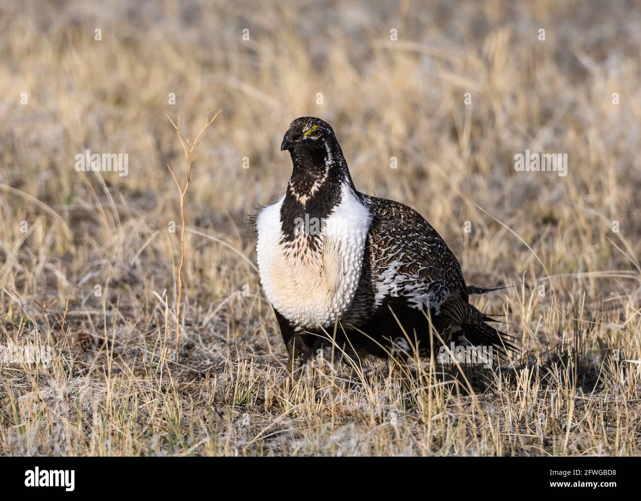
[[[292,176],[256,217],[258,268],[294,359],[336,343],[356,354],[429,353],[429,323],[445,343],[513,349],[468,296],[445,242],[417,211],[359,193],[333,129],[301,117],[281,151]]]

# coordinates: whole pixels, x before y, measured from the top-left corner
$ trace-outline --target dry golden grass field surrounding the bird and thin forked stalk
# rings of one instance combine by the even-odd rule
[[[1,366],[0,453],[640,454],[640,19],[619,1],[0,6],[0,340],[53,350]],[[220,108],[187,193],[176,360],[184,152],[164,115],[194,137]],[[284,378],[244,218],[283,192],[301,115],[469,283],[514,286],[476,299],[509,315],[512,366],[472,391],[427,362]],[[86,149],[127,153],[129,175],[76,172]],[[569,174],[515,172],[526,149]]]

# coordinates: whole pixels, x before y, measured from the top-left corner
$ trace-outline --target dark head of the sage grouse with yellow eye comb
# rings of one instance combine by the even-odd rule
[[[315,117],[294,120],[281,144],[281,151],[285,150],[294,167],[289,191],[303,206],[318,192],[340,189],[344,183],[353,186],[343,151],[327,122]]]

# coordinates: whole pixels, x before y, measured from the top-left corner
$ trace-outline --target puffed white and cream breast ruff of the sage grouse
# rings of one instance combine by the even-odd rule
[[[256,222],[256,254],[265,295],[293,324],[333,327],[356,292],[372,213],[343,186],[341,202],[324,221],[320,245],[312,252],[304,237],[293,246],[280,243],[283,199],[263,209]]]

